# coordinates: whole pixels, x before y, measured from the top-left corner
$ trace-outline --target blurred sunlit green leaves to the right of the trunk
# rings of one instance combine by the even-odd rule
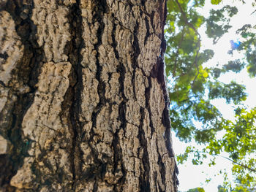
[[[244,3],[241,1],[241,4]],[[206,63],[213,58],[214,50],[201,48],[198,29],[204,26],[208,38],[217,44],[232,27],[230,18],[238,13],[238,8],[225,5],[221,9],[214,9],[214,4],[221,4],[221,0],[211,0],[213,9],[206,17],[197,11],[204,4],[204,0],[167,1],[165,64],[172,127],[181,141],[195,139],[197,144],[205,146],[203,150],[187,147],[184,154],[177,156],[177,161],[182,164],[189,154],[193,154],[193,164],[203,164],[203,159],[210,156],[211,165],[214,165],[217,155],[228,153],[229,156],[224,158],[233,164],[236,186],[230,188],[226,177],[219,191],[251,191],[256,188],[256,107],[248,110],[244,106],[243,101],[247,96],[244,85],[235,81],[225,84],[219,77],[227,72],[239,73],[244,68],[250,77],[256,76],[256,26],[242,23],[236,31],[241,40],[230,39],[227,54],[233,55],[234,51],[238,51],[244,53],[244,58],[228,61],[222,66],[208,67]],[[212,104],[213,99],[225,99],[227,104],[234,104],[235,120],[224,118]],[[202,126],[196,126],[196,122]],[[220,131],[224,133],[221,139],[216,137]]]

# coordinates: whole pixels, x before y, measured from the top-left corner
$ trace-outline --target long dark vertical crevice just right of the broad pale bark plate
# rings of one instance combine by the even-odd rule
[[[69,33],[71,34],[71,41],[67,42],[65,46],[65,52],[68,55],[68,61],[72,64],[72,69],[69,74],[69,88],[64,96],[62,102],[62,111],[64,108],[69,110],[69,123],[70,123],[70,134],[72,135],[72,147],[70,148],[70,164],[72,166],[72,190],[75,191],[77,182],[80,180],[80,159],[83,155],[80,149],[80,142],[82,139],[82,128],[83,123],[80,122],[79,114],[81,112],[81,91],[83,91],[83,80],[82,80],[82,55],[80,54],[81,49],[84,46],[82,34],[82,16],[80,9],[80,0],[77,0],[75,4],[69,8]],[[61,115],[60,115],[61,116]]]

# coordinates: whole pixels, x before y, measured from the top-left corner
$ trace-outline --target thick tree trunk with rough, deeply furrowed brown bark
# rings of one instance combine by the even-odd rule
[[[0,1],[0,191],[176,191],[165,0]]]

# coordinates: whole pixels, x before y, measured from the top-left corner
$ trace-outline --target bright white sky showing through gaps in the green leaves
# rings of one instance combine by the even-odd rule
[[[256,25],[256,7],[252,7],[253,0],[246,0],[246,4],[242,4],[241,1],[233,1],[233,0],[224,0],[225,3],[221,3],[218,6],[213,6],[210,0],[206,0],[205,7],[203,9],[198,9],[198,11],[207,17],[209,13],[209,9],[212,7],[222,8],[223,5],[229,4],[230,6],[236,6],[238,8],[238,14],[233,16],[230,20],[230,28],[229,33],[225,34],[217,45],[212,44],[212,40],[208,39],[205,34],[205,28],[200,28],[199,33],[202,39],[202,49],[212,49],[214,50],[214,58],[212,58],[208,63],[207,66],[222,66],[223,64],[227,64],[227,61],[234,60],[236,58],[243,58],[244,55],[239,54],[236,50],[233,52],[232,55],[228,55],[227,51],[230,50],[230,40],[239,40],[238,35],[236,35],[236,30],[244,26],[244,24],[252,24]],[[252,14],[252,15],[251,15]],[[246,23],[245,23],[246,22]],[[249,108],[256,106],[256,78],[250,78],[246,69],[243,69],[239,74],[234,72],[228,72],[227,74],[222,75],[219,77],[219,80],[225,83],[229,83],[231,80],[236,80],[236,82],[246,85],[246,93],[248,93],[246,102],[244,103]],[[233,107],[231,104],[226,104],[224,99],[215,99],[212,101],[224,118],[227,119],[234,119],[234,112]],[[221,134],[219,137],[222,137]],[[173,132],[173,148],[175,150],[176,155],[181,154],[184,152],[187,146],[184,142],[180,142],[178,138],[175,137],[175,133]],[[195,145],[195,143],[192,143]],[[197,146],[200,147],[200,146]],[[224,154],[225,155],[225,154]],[[226,155],[228,156],[228,155]],[[187,161],[187,163],[178,165],[179,174],[179,191],[188,191],[190,188],[197,188],[203,187],[206,192],[217,192],[217,186],[221,185],[223,182],[223,176],[219,174],[220,170],[227,169],[227,173],[229,177],[232,178],[230,174],[230,169],[232,164],[230,161],[226,160],[225,158],[217,158],[217,164],[215,166],[208,166],[209,160],[206,160],[205,164],[200,166],[192,165],[191,161]],[[206,184],[206,179],[211,178],[211,181]]]

